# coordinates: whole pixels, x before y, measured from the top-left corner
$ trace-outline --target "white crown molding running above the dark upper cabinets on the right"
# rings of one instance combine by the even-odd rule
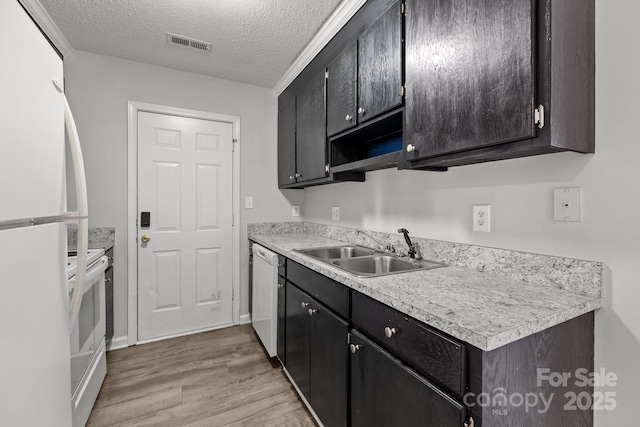
[[[367,0],[344,0],[320,27],[316,35],[296,58],[291,67],[273,88],[280,95],[291,82],[309,65],[318,53],[329,43],[338,31],[356,14]]]

